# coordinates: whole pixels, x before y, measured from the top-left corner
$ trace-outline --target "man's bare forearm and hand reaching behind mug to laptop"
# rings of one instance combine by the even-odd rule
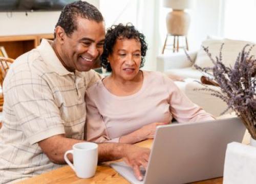
[[[82,140],[66,138],[65,135],[54,135],[38,142],[42,151],[49,157],[51,162],[55,164],[65,164],[64,154],[72,149],[76,143],[84,142]],[[146,169],[150,149],[141,148],[135,145],[120,143],[102,143],[98,144],[99,162],[117,160],[123,158],[130,165],[136,177],[141,180],[142,176],[139,170],[140,166]],[[73,162],[73,157],[69,155],[69,159]]]

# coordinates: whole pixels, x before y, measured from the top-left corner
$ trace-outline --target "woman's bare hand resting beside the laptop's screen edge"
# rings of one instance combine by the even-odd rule
[[[167,125],[167,124],[168,123],[151,123],[151,124],[145,125],[138,130],[138,133],[139,133],[138,135],[141,140],[154,139],[157,126]]]

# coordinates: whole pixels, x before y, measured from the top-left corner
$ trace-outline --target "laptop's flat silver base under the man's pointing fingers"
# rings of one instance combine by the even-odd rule
[[[110,164],[110,166],[131,183],[134,183],[134,184],[144,183],[144,181],[139,181],[135,177],[133,169],[127,164],[125,164],[124,162],[113,163],[113,164]]]

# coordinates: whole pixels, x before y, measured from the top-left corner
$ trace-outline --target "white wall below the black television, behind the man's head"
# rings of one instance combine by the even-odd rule
[[[99,7],[99,0],[87,2]],[[50,12],[1,12],[0,36],[53,33],[60,11]]]

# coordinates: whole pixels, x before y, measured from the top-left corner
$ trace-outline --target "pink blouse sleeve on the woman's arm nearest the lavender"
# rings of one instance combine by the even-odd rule
[[[169,95],[170,112],[180,123],[215,120],[198,105],[191,102],[178,86],[167,76],[163,77]]]

